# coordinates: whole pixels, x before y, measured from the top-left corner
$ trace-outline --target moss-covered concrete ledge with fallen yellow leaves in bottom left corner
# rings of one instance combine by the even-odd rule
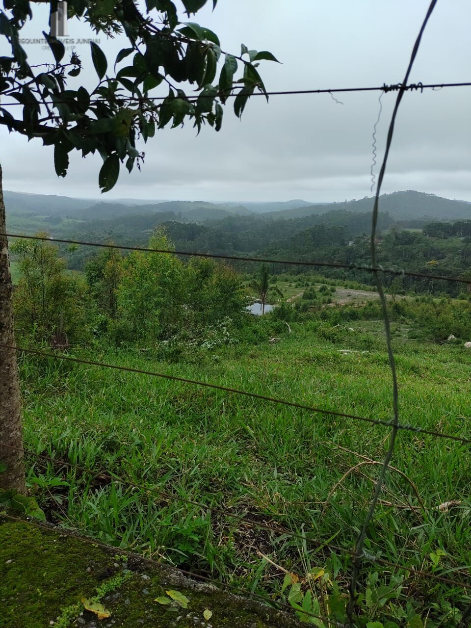
[[[178,590],[187,609],[155,602]],[[110,616],[99,620],[82,598],[99,598]],[[212,613],[205,619],[205,610]],[[208,615],[208,613],[207,613]],[[301,624],[266,605],[193,582],[119,549],[64,536],[0,514],[2,628],[295,628]]]

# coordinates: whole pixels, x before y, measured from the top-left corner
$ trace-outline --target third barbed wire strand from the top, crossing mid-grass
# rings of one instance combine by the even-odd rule
[[[130,373],[138,373],[141,375],[148,375],[151,377],[161,377],[162,379],[169,379],[171,381],[182,382],[183,384],[193,384],[194,386],[203,386],[207,388],[212,388],[215,390],[223,391],[225,393],[238,394],[246,397],[250,397],[253,399],[261,399],[262,401],[270,401],[271,403],[277,403],[282,406],[288,406],[288,408],[297,408],[301,410],[306,410],[308,412],[315,412],[319,414],[328,414],[330,416],[337,416],[341,418],[352,419],[354,421],[364,421],[365,423],[370,423],[371,425],[376,426],[384,426],[391,427],[394,425],[394,420],[391,421],[383,421],[381,419],[373,419],[367,416],[359,416],[357,414],[348,414],[344,412],[338,412],[335,410],[329,410],[327,408],[317,408],[315,406],[308,406],[307,404],[297,403],[296,401],[286,401],[286,399],[278,399],[276,397],[270,397],[259,393],[251,393],[249,391],[239,390],[237,388],[231,388],[229,386],[220,386],[219,384],[212,384],[210,382],[203,382],[197,379],[188,379],[187,377],[178,377],[175,375],[169,375],[167,373],[158,373],[156,371],[146,371],[145,369],[133,369],[132,367],[122,366],[119,364],[107,364],[107,362],[96,362],[95,360],[87,360],[84,358],[72,357],[71,355],[63,355],[63,354],[51,354],[45,351],[40,351],[38,349],[28,349],[27,347],[18,347],[16,345],[8,345],[0,342],[0,347],[4,349],[11,349],[17,352],[24,352],[33,355],[41,355],[43,357],[48,357],[56,360],[68,360],[69,362],[76,362],[77,364],[89,364],[91,366],[97,366],[101,368],[107,369],[116,369],[117,371],[127,371]],[[410,425],[408,423],[399,424],[399,430],[411,431],[415,434],[427,434],[429,436],[435,436],[436,438],[445,438],[448,440],[459,441],[460,443],[470,444],[471,439],[466,436],[456,436],[453,434],[447,434],[443,432],[438,432],[435,430],[426,430],[425,428],[421,428],[415,425]]]

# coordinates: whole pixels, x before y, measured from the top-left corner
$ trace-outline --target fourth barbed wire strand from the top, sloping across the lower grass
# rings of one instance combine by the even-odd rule
[[[108,472],[104,472],[102,470],[98,470],[98,469],[94,470],[87,467],[82,467],[81,465],[77,465],[76,463],[68,462],[67,460],[60,460],[58,458],[51,457],[48,454],[38,453],[33,450],[29,450],[28,448],[14,447],[13,445],[8,445],[6,443],[0,443],[0,445],[3,445],[5,447],[8,447],[10,449],[13,449],[19,452],[27,453],[28,455],[33,455],[36,458],[41,458],[45,460],[45,462],[54,462],[54,463],[57,463],[58,465],[63,465],[64,467],[69,467],[69,468],[78,470],[80,472],[84,472],[87,475],[90,475],[93,472],[96,477],[99,477],[101,479],[107,479],[107,480],[111,480],[115,482],[120,482],[121,484],[128,485],[129,487],[133,487],[138,490],[143,490],[144,492],[154,493],[158,495],[158,497],[162,497],[163,499],[165,499],[169,504],[173,501],[176,501],[176,502],[181,502],[183,504],[187,504],[189,506],[197,506],[197,507],[202,508],[205,511],[211,511],[216,514],[220,514],[224,517],[229,517],[230,519],[236,519],[237,521],[241,521],[244,524],[246,524],[249,528],[263,529],[269,532],[279,534],[280,536],[295,538],[300,541],[305,541],[306,543],[313,544],[317,546],[318,549],[329,549],[332,552],[337,552],[345,556],[349,556],[350,558],[354,554],[352,552],[352,549],[343,548],[342,546],[335,545],[333,543],[330,543],[329,541],[323,541],[322,539],[315,538],[308,534],[296,533],[291,530],[280,528],[279,526],[271,526],[267,524],[266,522],[263,523],[259,521],[253,521],[252,519],[249,519],[247,516],[232,513],[229,511],[229,509],[221,509],[219,507],[208,506],[208,504],[203,504],[202,502],[192,501],[184,497],[179,497],[178,495],[168,495],[166,494],[165,491],[161,489],[156,489],[154,487],[137,484],[136,482],[133,482],[132,480],[122,479],[116,474],[109,474]],[[392,567],[401,571],[409,571],[411,574],[413,574],[416,577],[431,578],[432,580],[436,580],[437,582],[442,582],[444,584],[452,585],[453,587],[465,588],[471,591],[471,584],[468,585],[465,582],[459,582],[458,580],[453,580],[452,578],[447,578],[446,576],[441,576],[436,573],[431,573],[430,571],[423,571],[423,570],[416,569],[411,566],[401,565],[400,563],[394,563],[393,561],[386,560],[384,558],[381,558],[380,556],[375,556],[365,551],[362,552],[362,555],[359,558],[364,559],[365,561],[372,564],[389,566],[389,567]]]

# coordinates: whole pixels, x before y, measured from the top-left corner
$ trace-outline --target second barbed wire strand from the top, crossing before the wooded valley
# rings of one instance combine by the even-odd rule
[[[264,257],[243,257],[238,255],[229,255],[223,253],[204,253],[198,251],[175,251],[171,249],[154,249],[152,247],[139,247],[132,246],[126,244],[107,244],[104,242],[85,242],[80,240],[70,240],[64,238],[55,238],[55,237],[45,237],[45,236],[25,236],[24,234],[9,234],[9,233],[0,233],[0,236],[5,237],[17,237],[25,240],[38,240],[42,242],[54,243],[58,244],[77,244],[79,246],[91,246],[98,247],[103,249],[119,249],[121,251],[141,251],[144,253],[162,253],[169,255],[181,255],[188,257],[209,257],[211,259],[229,259],[230,261],[242,261],[242,262],[257,262],[264,264],[286,264],[288,266],[319,266],[325,268],[345,268],[348,270],[359,270],[359,271],[367,271],[369,273],[386,273],[398,275],[401,277],[416,277],[422,279],[431,279],[431,280],[440,280],[440,281],[455,281],[458,283],[466,283],[471,285],[471,278],[465,277],[448,277],[443,275],[429,274],[429,273],[416,273],[414,271],[406,271],[404,269],[396,269],[396,268],[385,268],[381,266],[381,264],[377,264],[377,266],[371,266],[369,264],[342,264],[340,262],[323,262],[323,261],[301,261],[296,259],[268,259]]]

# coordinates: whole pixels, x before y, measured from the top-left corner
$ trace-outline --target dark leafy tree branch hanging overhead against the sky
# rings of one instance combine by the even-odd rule
[[[191,18],[208,0],[182,1]],[[134,164],[140,168],[144,153],[138,142],[146,143],[156,129],[192,121],[198,133],[206,123],[219,131],[222,105],[230,95],[235,96],[238,117],[256,90],[268,100],[257,67],[276,58],[245,45],[239,56],[223,51],[213,31],[193,21],[180,22],[171,0],[147,0],[145,14],[134,0],[69,0],[69,18],[84,21],[96,33],[124,35],[129,42],[114,63],[97,43],[90,43],[97,85],[89,92],[77,78],[82,59],[73,52],[65,61],[63,43],[44,31],[51,62],[30,63],[20,32],[33,19],[34,4],[4,0],[0,10],[0,35],[11,46],[11,55],[0,57],[0,125],[53,145],[58,176],[67,174],[68,154],[74,149],[82,156],[98,152],[103,160],[99,186],[107,192],[122,163],[129,172]],[[212,0],[213,8],[216,4]],[[164,94],[159,87],[165,88]]]

